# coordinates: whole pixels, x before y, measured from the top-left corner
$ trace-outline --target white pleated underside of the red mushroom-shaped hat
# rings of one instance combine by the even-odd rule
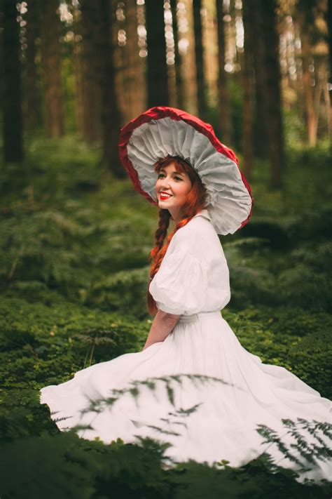
[[[207,210],[218,234],[233,234],[247,220],[251,197],[237,164],[216,151],[205,135],[184,121],[166,117],[142,124],[132,132],[127,154],[141,188],[154,201],[158,175],[153,164],[168,155],[179,156],[200,175],[207,189]]]

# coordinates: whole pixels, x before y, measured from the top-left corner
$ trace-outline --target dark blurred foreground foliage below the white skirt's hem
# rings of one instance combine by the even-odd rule
[[[165,465],[165,445],[140,446],[78,439],[70,432],[20,439],[0,449],[0,492],[5,499],[49,498],[327,498],[331,486],[299,484],[291,470],[269,472],[266,455],[242,468],[188,461]],[[20,470],[20,472],[18,472]]]

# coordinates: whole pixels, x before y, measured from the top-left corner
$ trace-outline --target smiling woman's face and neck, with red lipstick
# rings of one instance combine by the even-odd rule
[[[181,206],[185,203],[191,187],[188,174],[177,171],[174,162],[160,169],[155,182],[158,206],[167,209],[175,222],[182,218]]]

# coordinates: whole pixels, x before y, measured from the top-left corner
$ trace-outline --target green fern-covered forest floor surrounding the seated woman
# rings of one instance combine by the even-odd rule
[[[332,398],[331,156],[293,148],[287,158],[281,191],[256,162],[253,217],[221,237],[232,291],[223,317],[247,350]],[[0,189],[1,497],[331,497],[331,484],[298,484],[259,460],[170,471],[156,442],[60,434],[39,389],[144,345],[157,212],[77,137],[30,140],[23,166],[1,168]]]

